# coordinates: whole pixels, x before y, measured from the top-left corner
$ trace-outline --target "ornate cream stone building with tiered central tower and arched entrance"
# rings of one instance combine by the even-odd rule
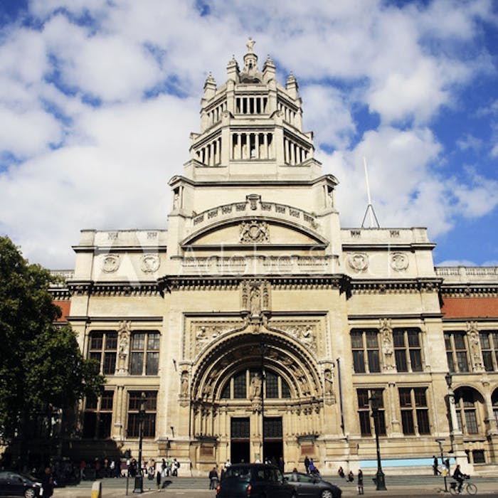
[[[194,475],[368,469],[374,420],[383,467],[429,467],[437,439],[498,464],[498,269],[434,267],[425,228],[342,228],[297,81],[253,45],[206,80],[167,230],[82,231],[54,290],[107,376],[71,451],[137,456],[143,392],[144,457]]]

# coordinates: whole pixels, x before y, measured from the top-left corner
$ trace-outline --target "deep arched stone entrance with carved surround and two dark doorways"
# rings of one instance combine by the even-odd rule
[[[191,437],[216,441],[217,462],[284,457],[297,465],[300,438],[316,438],[322,426],[316,361],[274,332],[241,331],[213,344],[196,362],[191,393]]]

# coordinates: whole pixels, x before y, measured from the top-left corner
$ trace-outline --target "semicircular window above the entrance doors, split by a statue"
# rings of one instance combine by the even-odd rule
[[[260,376],[260,371],[245,369],[233,374],[221,389],[222,399],[247,399],[251,393],[253,377]],[[265,369],[263,394],[266,399],[290,398],[290,388],[282,376],[272,370]]]

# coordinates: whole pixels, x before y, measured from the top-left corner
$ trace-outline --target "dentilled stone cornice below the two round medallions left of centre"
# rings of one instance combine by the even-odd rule
[[[93,296],[154,296],[160,295],[157,282],[68,282],[70,295]]]

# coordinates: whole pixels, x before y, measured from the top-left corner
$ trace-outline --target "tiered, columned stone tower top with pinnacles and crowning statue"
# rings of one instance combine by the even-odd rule
[[[229,179],[240,176],[316,178],[311,132],[302,131],[302,101],[295,76],[277,82],[268,55],[263,71],[249,38],[243,68],[233,57],[220,87],[211,73],[201,100],[201,132],[191,134],[186,176]],[[212,169],[212,171],[210,171]]]

